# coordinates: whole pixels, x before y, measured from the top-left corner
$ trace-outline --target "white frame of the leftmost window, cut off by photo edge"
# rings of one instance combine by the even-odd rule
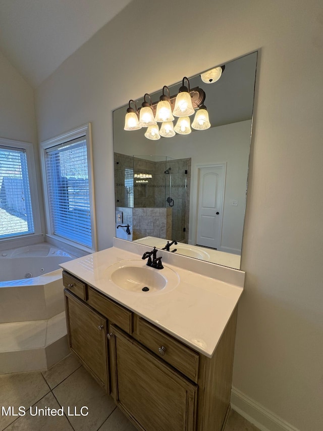
[[[34,223],[33,232],[21,233],[7,238],[0,238],[0,244],[5,244],[6,242],[12,243],[13,241],[17,240],[42,236],[33,143],[0,137],[0,145],[12,148],[13,150],[24,150],[26,152],[31,211]]]

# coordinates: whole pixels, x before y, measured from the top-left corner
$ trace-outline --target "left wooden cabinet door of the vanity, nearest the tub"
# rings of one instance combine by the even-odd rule
[[[106,319],[66,290],[65,306],[71,350],[109,393]]]

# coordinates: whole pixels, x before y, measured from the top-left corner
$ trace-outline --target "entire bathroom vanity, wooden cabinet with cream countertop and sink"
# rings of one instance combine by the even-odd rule
[[[163,275],[145,266],[145,251],[116,240],[62,265],[70,348],[138,429],[220,431],[244,273],[158,251]]]

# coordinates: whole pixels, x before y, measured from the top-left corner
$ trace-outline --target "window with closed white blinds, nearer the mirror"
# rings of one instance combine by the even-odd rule
[[[89,126],[43,142],[48,233],[95,250]]]

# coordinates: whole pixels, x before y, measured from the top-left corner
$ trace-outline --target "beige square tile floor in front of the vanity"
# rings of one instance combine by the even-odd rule
[[[2,406],[7,413],[13,406],[11,413],[18,416],[0,411],[0,431],[136,431],[73,354],[48,371],[0,375],[0,409]],[[25,415],[19,415],[20,406],[25,407]],[[88,407],[88,415],[75,415],[80,414],[82,406]],[[40,408],[48,412],[47,407],[63,407],[64,415],[36,415]],[[258,428],[231,410],[225,431]]]

